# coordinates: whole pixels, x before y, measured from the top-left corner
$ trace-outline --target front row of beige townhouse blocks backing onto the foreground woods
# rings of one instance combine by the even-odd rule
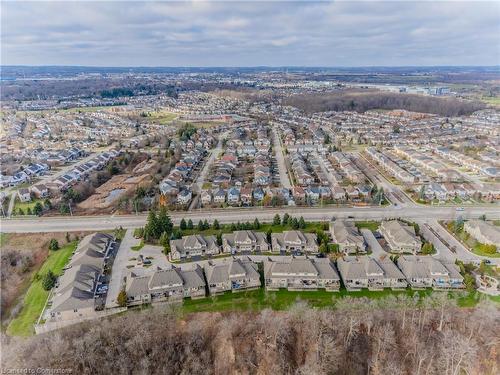
[[[259,266],[261,264],[261,266]],[[327,258],[279,256],[262,261],[250,257],[224,259],[185,268],[170,266],[156,270],[133,270],[126,277],[129,306],[203,298],[227,291],[257,289],[274,291],[339,291],[341,281],[348,291],[389,288],[462,289],[463,277],[452,263],[429,256],[401,256],[396,263],[369,256],[340,258],[337,265]],[[263,283],[262,283],[263,282]]]

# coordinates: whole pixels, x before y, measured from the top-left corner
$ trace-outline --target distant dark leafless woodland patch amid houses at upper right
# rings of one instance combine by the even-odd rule
[[[468,115],[485,107],[484,103],[455,98],[398,94],[373,90],[294,95],[285,99],[284,104],[297,107],[307,113],[405,109],[407,111],[433,113],[448,117]]]

